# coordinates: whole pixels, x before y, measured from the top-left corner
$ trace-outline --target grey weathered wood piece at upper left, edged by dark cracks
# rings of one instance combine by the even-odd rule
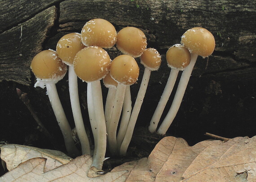
[[[30,64],[56,19],[54,6],[0,34],[0,81],[31,84]]]

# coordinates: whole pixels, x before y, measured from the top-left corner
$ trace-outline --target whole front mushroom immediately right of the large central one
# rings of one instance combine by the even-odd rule
[[[132,56],[120,55],[112,61],[110,75],[116,82],[118,82],[118,85],[107,139],[109,142],[110,153],[112,155],[118,155],[116,130],[124,103],[125,88],[137,81],[139,76],[139,66]]]

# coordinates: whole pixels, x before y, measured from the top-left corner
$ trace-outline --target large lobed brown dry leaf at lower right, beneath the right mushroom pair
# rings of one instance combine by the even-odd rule
[[[206,140],[189,147],[183,139],[162,139],[148,158],[155,181],[256,181],[256,137],[223,143]],[[248,174],[248,175],[247,175]]]

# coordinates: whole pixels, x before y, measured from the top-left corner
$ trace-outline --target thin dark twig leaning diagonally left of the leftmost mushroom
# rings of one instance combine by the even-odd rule
[[[49,139],[49,141],[51,141],[51,143],[53,144],[54,148],[56,150],[60,150],[62,147],[60,147],[60,145],[53,139],[52,135],[49,133],[49,131],[44,127],[43,123],[40,121],[39,117],[36,115],[34,109],[32,108],[31,104],[30,104],[30,100],[27,97],[27,93],[22,92],[20,89],[16,88],[18,97],[20,100],[22,100],[24,102],[24,104],[26,105],[26,107],[28,108],[28,110],[30,111],[30,113],[32,114],[32,116],[34,117],[36,123],[38,124],[38,126],[40,127],[40,130],[43,132],[43,134]]]

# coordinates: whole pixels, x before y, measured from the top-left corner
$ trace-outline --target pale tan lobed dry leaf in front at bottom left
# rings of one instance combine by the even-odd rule
[[[27,160],[0,177],[0,182],[124,182],[126,178],[124,174],[128,173],[124,169],[89,178],[87,174],[93,159],[88,155],[79,156],[68,164],[44,173],[46,160],[45,158]]]

